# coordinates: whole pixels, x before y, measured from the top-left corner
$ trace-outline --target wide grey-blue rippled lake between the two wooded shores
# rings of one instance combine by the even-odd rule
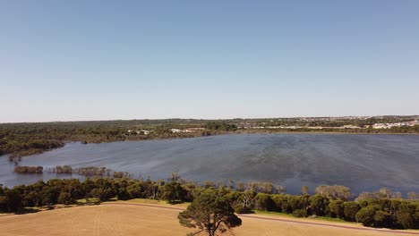
[[[270,181],[299,193],[321,184],[353,192],[388,187],[419,192],[419,136],[358,134],[249,134],[87,144],[69,143],[21,165],[105,166],[133,177],[167,179],[179,173],[193,181]],[[0,156],[0,183],[13,187],[70,175],[17,174]],[[74,177],[80,177],[73,175]]]

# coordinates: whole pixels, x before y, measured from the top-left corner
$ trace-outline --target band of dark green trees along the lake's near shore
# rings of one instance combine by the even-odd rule
[[[124,176],[121,176],[124,177]],[[0,187],[0,212],[20,212],[25,207],[73,204],[78,199],[152,198],[169,203],[192,202],[205,190],[217,190],[235,213],[254,210],[281,212],[295,217],[328,216],[370,227],[419,229],[419,194],[409,193],[409,199],[397,192],[381,189],[362,193],[358,198],[345,186],[319,186],[314,194],[302,188],[302,194],[290,195],[285,188],[269,182],[227,184],[206,181],[184,181],[173,174],[167,181],[150,178],[88,178],[38,181],[13,189]]]

